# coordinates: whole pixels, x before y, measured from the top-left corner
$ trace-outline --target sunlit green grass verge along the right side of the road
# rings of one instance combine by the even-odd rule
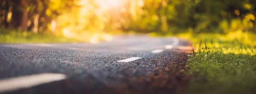
[[[188,94],[256,94],[256,39],[252,33],[179,34],[196,47],[187,69]]]

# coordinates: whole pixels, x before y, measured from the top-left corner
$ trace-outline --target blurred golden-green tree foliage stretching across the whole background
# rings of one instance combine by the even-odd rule
[[[112,1],[1,0],[3,14],[0,16],[7,19],[6,15],[11,12],[13,15],[24,16],[22,14],[27,11],[27,21],[31,23],[27,27],[29,30],[36,27],[35,16],[39,14],[38,29],[50,30],[51,21],[57,20],[57,31],[70,28],[79,33],[117,30],[180,33],[174,28],[190,28],[194,33],[227,33],[230,32],[227,28],[232,28],[233,19],[249,24],[244,28],[250,32],[256,26],[255,0],[119,0],[119,6],[108,5],[108,2]],[[249,14],[251,16],[248,19],[246,16]],[[17,19],[15,16],[12,21],[6,21],[1,20],[0,23],[2,26],[6,24],[7,28],[19,28],[20,24],[26,24],[21,22],[24,19]]]

